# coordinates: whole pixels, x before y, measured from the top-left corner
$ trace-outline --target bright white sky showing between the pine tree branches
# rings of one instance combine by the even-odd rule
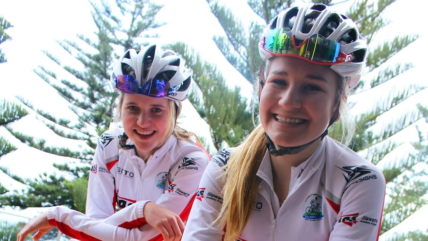
[[[206,0],[159,0],[159,2],[168,3],[159,12],[158,17],[169,22],[156,30],[160,37],[159,41],[166,43],[174,39],[174,41],[187,42],[194,48],[199,49],[201,54],[208,56],[208,61],[217,64],[218,69],[223,70],[228,84],[231,86],[237,84],[241,87],[241,93],[244,96],[251,97],[250,84],[227,63],[211,40],[213,35],[224,35],[224,32],[210,12]],[[221,2],[229,5],[234,12],[239,10],[243,19],[254,20],[257,17],[251,12],[246,0],[222,0]],[[338,7],[346,8],[346,4],[348,3],[341,4]],[[6,31],[12,37],[12,40],[0,45],[8,60],[8,63],[0,64],[0,74],[2,76],[0,81],[3,81],[0,88],[0,99],[5,97],[13,100],[15,95],[24,96],[37,108],[55,113],[54,116],[67,117],[71,121],[75,121],[75,114],[66,107],[69,104],[60,98],[56,90],[44,80],[41,80],[32,70],[36,69],[37,66],[52,66],[52,61],[41,53],[41,50],[48,50],[57,56],[62,50],[55,40],[62,41],[67,39],[73,41],[77,39],[76,34],[85,36],[93,34],[96,28],[91,17],[91,9],[92,7],[87,0],[0,0],[0,15],[14,25],[13,28]],[[392,36],[400,33],[419,33],[423,35],[423,38],[405,48],[402,53],[399,53],[397,57],[391,60],[400,63],[403,59],[411,59],[416,65],[416,68],[403,81],[425,81],[425,83],[428,83],[425,74],[427,63],[425,58],[428,56],[426,47],[428,42],[427,27],[424,25],[426,23],[426,9],[428,9],[428,1],[425,0],[398,0],[390,7],[386,15],[386,17],[394,21],[393,24],[379,31],[377,36],[377,39],[382,42],[389,38],[392,39]],[[182,26],[186,26],[186,28],[182,28]],[[59,60],[62,65],[72,65],[78,68],[78,65],[70,58],[60,55]],[[61,75],[64,75],[64,79],[70,79],[70,74],[61,72],[59,69],[55,71],[58,72],[58,79],[63,79]],[[5,85],[5,81],[10,81],[13,84]],[[370,94],[373,93],[367,93],[367,95]],[[428,98],[426,96],[420,95],[414,101],[426,103],[426,106],[428,106]],[[365,102],[364,99],[358,99],[357,102],[361,107],[358,108],[356,106],[353,111],[358,113],[363,108],[372,105],[370,102]],[[367,98],[367,101],[370,100],[371,98]],[[191,107],[188,106],[187,109],[191,109]],[[183,121],[186,121],[188,126],[184,127],[189,127],[188,129],[195,131],[195,125],[188,121],[195,119],[195,112],[185,112],[185,115],[187,117]],[[13,128],[23,133],[31,133],[34,136],[43,136],[51,143],[63,143],[63,145],[70,147],[71,150],[85,147],[82,142],[64,144],[65,140],[58,140],[58,137],[55,137],[49,128],[39,125],[40,122],[35,121],[35,117],[32,115],[14,123]],[[201,122],[199,122],[199,125],[201,125]],[[199,131],[206,133],[207,129],[207,126],[202,126]],[[0,135],[5,136],[6,132],[4,128],[0,128]],[[17,147],[19,145],[19,150],[15,151],[13,155],[9,154],[3,157],[0,160],[0,166],[9,168],[11,173],[21,177],[35,178],[38,173],[55,171],[51,162],[70,162],[68,159],[58,159],[58,156],[52,157],[41,151],[34,151],[34,149],[25,147],[25,145],[20,145],[18,141],[16,141],[16,144]],[[25,155],[28,156],[29,154],[38,158],[28,160]],[[43,160],[46,164],[41,165],[40,160]],[[78,163],[75,164],[77,165]],[[22,184],[14,182],[2,171],[0,171],[0,182],[4,186],[22,188]],[[3,210],[0,213],[0,220],[8,220],[10,222],[25,220],[17,216],[7,215],[5,212],[18,213],[16,210]],[[401,230],[425,230],[428,226],[423,221],[423,218],[427,214],[428,208],[424,208],[419,213],[416,213],[414,217],[406,220],[406,223],[403,222],[402,228],[396,228]],[[34,216],[35,213],[30,213],[27,210],[26,213],[20,213],[19,215]],[[383,237],[387,237],[387,235]]]

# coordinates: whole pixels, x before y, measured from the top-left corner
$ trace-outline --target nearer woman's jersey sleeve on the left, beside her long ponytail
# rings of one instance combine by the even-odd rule
[[[222,169],[223,167],[214,161],[208,164],[199,184],[182,241],[222,240],[223,229],[213,225],[223,203]]]

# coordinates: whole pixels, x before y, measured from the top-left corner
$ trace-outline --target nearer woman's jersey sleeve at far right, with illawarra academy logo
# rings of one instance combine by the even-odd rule
[[[379,169],[371,170],[345,190],[329,241],[378,240],[386,183]]]

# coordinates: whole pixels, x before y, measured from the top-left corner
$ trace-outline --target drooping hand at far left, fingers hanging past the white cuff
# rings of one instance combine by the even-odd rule
[[[49,224],[48,213],[44,212],[35,219],[31,220],[21,231],[19,231],[18,235],[16,236],[16,241],[24,241],[27,235],[35,231],[37,231],[37,233],[33,235],[33,240],[37,241],[42,238],[43,235],[48,233],[52,228],[54,228],[54,226]]]

